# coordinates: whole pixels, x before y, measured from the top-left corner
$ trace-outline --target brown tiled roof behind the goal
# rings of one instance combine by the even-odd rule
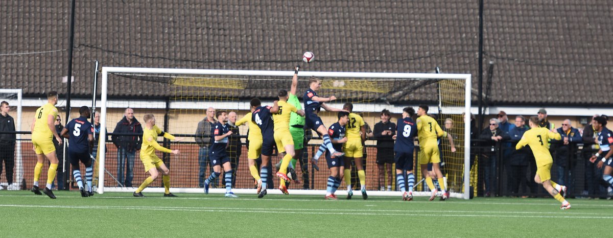
[[[443,72],[478,75],[476,1],[78,1],[74,96],[93,66]],[[69,1],[0,2],[0,88],[66,91]],[[487,1],[484,50],[494,104],[607,104],[611,1]],[[607,41],[608,40],[608,41]],[[57,51],[56,51],[57,50]],[[46,52],[13,55],[13,53]],[[485,75],[487,79],[487,75]],[[485,84],[487,85],[487,83]],[[167,96],[121,80],[112,96]],[[248,94],[257,94],[246,92]],[[272,95],[273,92],[267,94]],[[428,101],[430,93],[390,101]]]

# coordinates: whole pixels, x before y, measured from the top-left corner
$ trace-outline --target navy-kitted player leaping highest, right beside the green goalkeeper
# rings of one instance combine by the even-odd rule
[[[332,146],[330,142],[330,136],[326,132],[326,126],[321,121],[321,118],[317,115],[320,107],[323,107],[328,112],[341,112],[342,109],[337,109],[334,107],[327,106],[324,102],[334,101],[337,99],[335,96],[330,96],[330,98],[321,98],[317,95],[316,90],[319,90],[321,87],[321,80],[316,77],[311,77],[308,80],[309,89],[305,92],[304,96],[302,96],[302,100],[305,104],[305,125],[307,128],[314,129],[319,136],[324,139],[324,145],[328,148],[329,152],[332,153],[332,157],[343,156],[345,153],[342,153],[342,150],[337,152]]]

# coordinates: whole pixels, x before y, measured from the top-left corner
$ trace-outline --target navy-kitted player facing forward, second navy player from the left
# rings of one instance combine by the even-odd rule
[[[226,182],[226,198],[238,198],[232,193],[232,166],[230,165],[230,157],[226,153],[228,137],[232,134],[230,128],[226,124],[227,114],[225,111],[217,111],[215,113],[217,122],[211,126],[211,148],[208,150],[208,158],[211,161],[213,172],[204,182],[204,193],[208,194],[208,186],[211,182],[221,174],[221,166],[224,167],[224,181]]]

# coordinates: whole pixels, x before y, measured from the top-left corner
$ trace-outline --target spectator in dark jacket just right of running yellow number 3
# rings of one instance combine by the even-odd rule
[[[555,144],[555,159],[554,165],[558,171],[558,184],[569,186],[572,179],[571,169],[574,160],[571,161],[571,147],[576,146],[577,142],[582,142],[581,134],[577,128],[571,126],[571,120],[566,119],[562,123],[562,127],[557,129],[557,132],[562,136],[562,140],[556,141]],[[568,176],[569,175],[569,176]]]

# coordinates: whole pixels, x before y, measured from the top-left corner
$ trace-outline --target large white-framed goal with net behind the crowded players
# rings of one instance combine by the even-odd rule
[[[97,191],[134,191],[148,177],[139,158],[139,133],[142,133],[142,129],[139,130],[138,127],[145,126],[143,115],[152,113],[156,118],[156,125],[163,131],[177,137],[185,137],[180,142],[158,138],[160,145],[180,150],[180,155],[156,152],[171,171],[171,191],[203,193],[202,185],[211,173],[210,161],[205,156],[211,137],[209,131],[203,131],[199,127],[208,121],[207,110],[224,111],[228,114],[232,112],[231,114],[235,114],[240,120],[249,112],[251,98],[260,98],[262,105],[272,106],[278,90],[290,90],[292,75],[293,71],[102,67],[101,126],[107,130],[101,129],[100,143],[106,146],[99,148],[98,161],[101,169]],[[328,103],[330,106],[342,108],[344,103],[352,102],[353,111],[362,114],[370,128],[380,121],[381,110],[390,110],[392,122],[395,122],[396,118],[402,115],[403,107],[416,107],[417,101],[432,105],[429,113],[444,113],[440,116],[443,120],[447,117],[453,118],[455,126],[450,132],[459,138],[455,141],[458,151],[443,152],[443,161],[447,164],[443,172],[447,176],[452,197],[468,198],[469,145],[465,137],[470,128],[463,123],[462,113],[470,109],[469,74],[302,71],[299,72],[296,93],[301,103],[310,77],[322,79],[319,95],[337,97],[337,100]],[[124,99],[126,96],[135,99]],[[131,119],[132,115],[134,119]],[[326,126],[337,121],[336,113],[325,112],[323,109],[319,116]],[[229,118],[229,121],[232,123],[233,119]],[[238,133],[229,138],[227,147],[235,172],[234,192],[255,194],[254,179],[247,165],[248,126],[241,125],[236,129]],[[110,133],[110,136],[105,132]],[[310,131],[307,131],[303,159],[299,159],[296,165],[300,181],[289,186],[290,194],[326,193],[329,172],[325,158],[318,164],[320,171],[314,171],[308,162],[321,144],[316,133],[312,133],[313,138],[310,134]],[[397,191],[376,191],[382,182],[377,176],[375,145],[376,140],[373,139],[365,142],[368,193],[373,196],[399,196]],[[273,152],[273,168],[280,159],[278,153]],[[417,163],[417,159],[415,161]],[[416,164],[417,167],[419,166]],[[393,171],[395,173],[395,170]],[[220,178],[223,178],[223,175]],[[395,179],[387,178],[388,176],[383,183],[395,186]],[[278,186],[278,178],[268,180],[273,180],[274,185]],[[280,191],[272,189],[276,188],[274,185],[269,183],[268,192],[280,194]],[[216,186],[218,188],[215,188]],[[210,193],[225,192],[223,179],[214,181],[211,187]],[[341,188],[344,187],[343,182]],[[359,188],[355,183],[353,187]],[[337,194],[346,193],[341,190]],[[144,193],[161,191],[164,191],[164,188],[160,179],[151,183]],[[414,194],[426,196],[429,192],[419,190]]]

